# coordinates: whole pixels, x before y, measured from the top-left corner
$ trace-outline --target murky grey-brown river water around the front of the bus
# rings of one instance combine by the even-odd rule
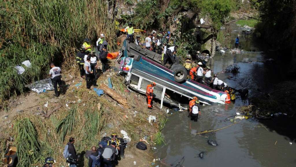
[[[231,25],[231,36],[242,34],[239,27]],[[255,96],[260,91],[272,89],[273,69],[265,63],[268,55],[260,51],[259,44],[252,36],[240,37],[240,49],[245,53],[231,54],[227,51],[225,56],[217,53],[208,62],[214,73],[221,72],[227,66],[236,63],[240,73],[220,73],[218,78],[229,86],[237,89],[249,89],[249,97]],[[255,50],[255,51],[250,51]],[[233,76],[228,79],[228,76]],[[198,122],[191,121],[188,112],[173,112],[162,130],[166,145],[157,146],[154,157],[162,159],[163,163],[152,166],[176,166],[184,156],[182,166],[296,166],[296,143],[289,138],[281,136],[268,127],[263,127],[258,120],[250,118],[237,120],[237,124],[216,131],[214,134],[194,135],[204,130],[215,130],[231,125],[226,121],[229,116],[234,116],[237,107],[248,105],[248,100],[237,99],[229,105],[204,105],[201,106],[202,117]],[[170,113],[169,113],[170,114]],[[208,139],[216,140],[218,146],[207,144]],[[292,142],[292,145],[289,144]],[[200,152],[205,152],[203,159]],[[167,165],[165,165],[166,163]]]

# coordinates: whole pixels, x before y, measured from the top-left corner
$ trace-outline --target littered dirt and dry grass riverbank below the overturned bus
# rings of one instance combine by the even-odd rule
[[[114,61],[110,62],[110,66],[116,69]],[[78,76],[78,72],[64,72],[62,80],[65,81],[67,91],[59,97],[53,97],[53,91],[41,94],[31,91],[26,95],[9,100],[7,111],[4,109],[0,111],[0,140],[3,143],[1,144],[1,155],[4,154],[4,144],[7,139],[14,139],[11,145],[22,144],[16,141],[20,134],[16,133],[15,125],[20,120],[29,118],[36,129],[38,143],[42,147],[39,152],[40,159],[36,160],[35,166],[40,166],[41,161],[47,156],[53,156],[57,160],[57,166],[65,166],[62,151],[69,137],[76,138],[76,150],[83,156],[92,145],[97,146],[105,135],[110,136],[111,133],[116,132],[119,137],[123,137],[120,134],[121,130],[127,132],[131,142],[126,148],[126,158],[118,161],[118,166],[134,166],[133,161],[136,161],[136,166],[148,166],[153,159],[150,156],[150,147],[154,145],[156,139],[161,137],[159,126],[163,126],[166,120],[165,108],[160,110],[156,107],[160,105],[155,103],[154,109],[148,110],[146,97],[129,91],[124,85],[123,76],[118,75],[115,70],[101,75],[97,84],[109,85],[108,78],[110,78],[112,89],[128,101],[127,106],[118,103],[106,93],[99,97],[94,90],[86,89],[85,80]],[[97,88],[100,89],[100,86]],[[59,109],[53,111],[59,106],[61,106]],[[73,108],[75,112],[72,112]],[[53,111],[52,114],[46,118],[46,114],[51,111]],[[149,123],[147,120],[149,115],[156,116],[156,122]],[[68,124],[64,121],[65,119],[73,119],[74,124]],[[62,128],[57,132],[58,125],[68,128]],[[136,143],[145,136],[149,142],[148,150],[136,149]],[[62,138],[65,140],[63,141]],[[82,159],[81,163],[87,165],[88,160]]]

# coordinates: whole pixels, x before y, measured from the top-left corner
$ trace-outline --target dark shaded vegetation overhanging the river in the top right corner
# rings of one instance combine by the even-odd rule
[[[271,48],[279,50],[291,62],[295,70],[296,62],[296,1],[257,0],[255,6],[260,12],[262,22],[257,29]],[[285,53],[285,54],[283,54]]]

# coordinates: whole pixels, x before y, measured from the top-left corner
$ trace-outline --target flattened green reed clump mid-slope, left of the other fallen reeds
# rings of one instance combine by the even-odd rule
[[[77,111],[77,105],[74,105],[68,112],[67,116],[59,121],[56,127],[57,133],[60,134],[60,138],[62,141],[65,140],[65,136],[67,134],[71,134],[73,127],[77,124],[77,120],[79,119],[79,114]]]

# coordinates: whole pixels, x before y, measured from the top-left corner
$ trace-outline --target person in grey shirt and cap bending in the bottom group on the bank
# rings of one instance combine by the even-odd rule
[[[118,155],[119,147],[116,147],[115,145],[116,143],[113,142],[104,149],[102,157],[105,167],[112,167],[112,161],[115,160],[115,155]]]

